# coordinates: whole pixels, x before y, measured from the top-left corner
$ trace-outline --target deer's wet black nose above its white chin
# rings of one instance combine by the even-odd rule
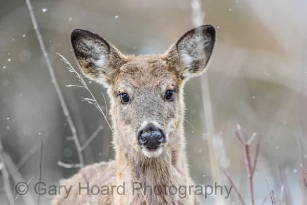
[[[149,124],[139,132],[138,140],[140,145],[155,149],[165,141],[165,136],[161,129]]]

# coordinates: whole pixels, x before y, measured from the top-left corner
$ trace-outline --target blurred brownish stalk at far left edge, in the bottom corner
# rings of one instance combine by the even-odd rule
[[[5,190],[5,194],[7,196],[7,200],[9,202],[9,204],[13,204],[14,203],[14,195],[12,193],[11,190],[11,183],[10,183],[10,175],[9,172],[7,170],[6,167],[6,163],[4,160],[4,151],[3,151],[3,146],[2,146],[2,141],[1,141],[1,137],[0,137],[0,161],[1,161],[1,172],[2,172],[2,176],[3,176],[3,186],[4,186],[4,190]]]

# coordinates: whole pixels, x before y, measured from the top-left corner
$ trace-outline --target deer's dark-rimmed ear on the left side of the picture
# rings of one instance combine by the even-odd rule
[[[83,73],[106,86],[111,85],[116,71],[125,64],[125,56],[101,36],[75,29],[71,43]]]

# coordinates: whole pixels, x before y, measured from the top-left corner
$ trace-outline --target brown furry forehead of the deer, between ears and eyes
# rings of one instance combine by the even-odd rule
[[[165,60],[158,55],[140,55],[131,57],[116,73],[114,92],[125,87],[135,89],[156,89],[169,86],[178,90],[180,80]]]

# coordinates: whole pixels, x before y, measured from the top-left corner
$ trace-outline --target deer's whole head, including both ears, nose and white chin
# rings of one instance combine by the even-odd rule
[[[102,37],[75,29],[73,49],[84,74],[111,96],[121,146],[158,157],[176,139],[183,118],[184,81],[200,74],[211,56],[215,31],[201,26],[184,34],[164,55],[125,56]]]

